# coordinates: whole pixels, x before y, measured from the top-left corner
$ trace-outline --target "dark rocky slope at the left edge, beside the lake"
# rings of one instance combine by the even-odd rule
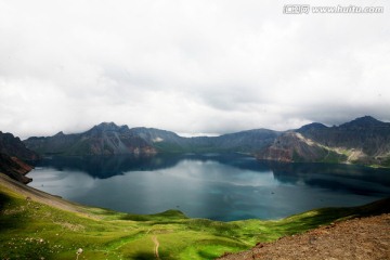
[[[38,154],[26,148],[21,139],[15,138],[12,133],[0,131],[0,172],[20,182],[28,183],[31,179],[25,177],[25,174],[32,167],[24,162],[24,160],[38,158]]]

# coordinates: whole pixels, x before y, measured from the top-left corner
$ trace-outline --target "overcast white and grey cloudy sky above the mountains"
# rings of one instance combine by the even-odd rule
[[[382,6],[286,14],[285,6]],[[387,0],[0,0],[0,130],[390,121]]]

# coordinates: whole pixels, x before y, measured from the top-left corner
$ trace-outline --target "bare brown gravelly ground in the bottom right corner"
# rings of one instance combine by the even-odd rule
[[[273,243],[258,244],[249,251],[220,259],[390,259],[390,214],[337,222]]]

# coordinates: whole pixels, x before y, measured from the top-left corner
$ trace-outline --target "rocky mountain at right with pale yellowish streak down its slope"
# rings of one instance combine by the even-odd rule
[[[310,123],[285,132],[256,156],[278,161],[352,162],[390,167],[390,123],[369,116],[334,127]]]

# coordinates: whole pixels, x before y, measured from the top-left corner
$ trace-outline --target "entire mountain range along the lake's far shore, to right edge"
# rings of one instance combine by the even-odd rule
[[[41,155],[117,155],[235,152],[286,162],[352,162],[390,167],[390,123],[370,116],[340,126],[313,122],[289,131],[255,129],[220,136],[183,138],[155,128],[102,122],[74,134],[29,138]]]

